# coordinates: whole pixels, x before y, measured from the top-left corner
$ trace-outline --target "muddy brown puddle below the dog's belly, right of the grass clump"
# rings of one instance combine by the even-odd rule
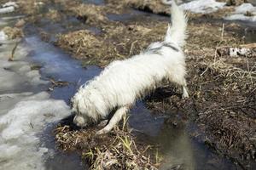
[[[239,169],[228,159],[212,153],[205,144],[191,139],[189,132],[195,129],[194,124],[185,125],[178,121],[178,112],[167,115],[154,113],[139,102],[131,110],[129,120],[135,132],[146,134],[148,140],[160,144],[164,157],[160,169]],[[177,120],[179,125],[166,123],[168,119]]]

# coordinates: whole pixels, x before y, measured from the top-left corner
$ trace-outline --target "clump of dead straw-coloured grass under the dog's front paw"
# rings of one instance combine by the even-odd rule
[[[160,165],[155,148],[139,142],[126,125],[116,127],[113,133],[96,135],[99,129],[89,127],[78,131],[61,126],[55,129],[55,139],[61,150],[81,153],[90,169],[157,169]]]

